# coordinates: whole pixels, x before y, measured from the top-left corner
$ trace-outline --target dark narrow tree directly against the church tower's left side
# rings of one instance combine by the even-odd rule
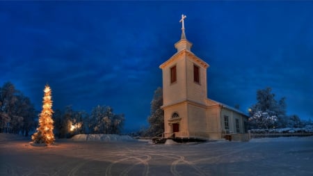
[[[162,104],[163,90],[159,87],[154,91],[151,102],[150,116],[148,118],[150,127],[147,129],[147,135],[155,136],[164,132],[164,111],[161,109]]]

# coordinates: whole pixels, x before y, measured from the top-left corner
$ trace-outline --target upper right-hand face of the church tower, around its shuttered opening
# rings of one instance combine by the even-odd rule
[[[193,65],[200,68],[200,83],[196,83],[193,79]],[[186,60],[187,80],[187,97],[193,102],[205,104],[207,99],[207,70],[200,64],[195,63],[191,59]]]

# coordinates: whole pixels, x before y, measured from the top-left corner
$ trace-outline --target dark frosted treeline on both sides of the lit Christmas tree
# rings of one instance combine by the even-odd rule
[[[0,87],[0,133],[30,136],[38,127],[39,113],[29,97],[15,89],[13,83]],[[117,115],[110,106],[99,105],[90,114],[67,106],[63,111],[55,110],[53,119],[57,138],[75,134],[120,134],[125,122],[123,114]]]

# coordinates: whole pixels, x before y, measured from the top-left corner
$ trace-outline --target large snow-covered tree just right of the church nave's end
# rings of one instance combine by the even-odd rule
[[[257,104],[251,106],[250,111],[250,127],[286,127],[286,103],[285,98],[282,97],[279,101],[275,99],[275,94],[271,93],[271,88],[257,90]],[[259,119],[257,119],[259,118]],[[272,121],[271,119],[275,119]],[[270,122],[268,122],[268,120]],[[259,124],[265,122],[265,124]],[[271,122],[275,122],[270,125]]]

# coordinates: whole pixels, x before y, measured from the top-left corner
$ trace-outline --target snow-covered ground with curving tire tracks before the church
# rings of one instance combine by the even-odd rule
[[[0,134],[0,175],[313,175],[313,138],[152,145]]]

